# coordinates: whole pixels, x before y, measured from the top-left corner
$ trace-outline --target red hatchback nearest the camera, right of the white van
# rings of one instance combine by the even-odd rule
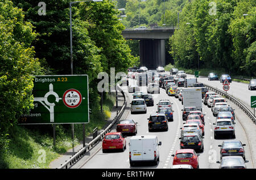
[[[179,149],[176,150],[176,154],[172,154],[174,161],[172,165],[187,164],[191,165],[194,169],[199,168],[199,155],[194,149]]]

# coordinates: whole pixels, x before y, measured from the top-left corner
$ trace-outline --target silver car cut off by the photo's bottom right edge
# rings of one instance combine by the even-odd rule
[[[245,163],[241,156],[226,156],[222,157],[221,161],[216,161],[220,164],[220,169],[246,169]]]

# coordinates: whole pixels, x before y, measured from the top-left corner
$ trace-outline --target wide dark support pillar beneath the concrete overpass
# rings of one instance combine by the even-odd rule
[[[141,66],[148,69],[156,69],[158,66],[166,65],[166,51],[164,39],[140,40],[139,57]]]

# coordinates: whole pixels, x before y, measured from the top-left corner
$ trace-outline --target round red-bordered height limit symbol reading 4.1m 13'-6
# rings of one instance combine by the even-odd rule
[[[76,108],[82,102],[82,95],[76,89],[69,89],[63,94],[63,102],[69,108]]]

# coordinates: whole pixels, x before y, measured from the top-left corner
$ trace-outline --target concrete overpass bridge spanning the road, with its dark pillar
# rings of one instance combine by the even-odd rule
[[[155,69],[166,65],[166,46],[176,28],[147,28],[145,30],[126,29],[122,31],[125,39],[139,40],[139,58],[141,66]]]

